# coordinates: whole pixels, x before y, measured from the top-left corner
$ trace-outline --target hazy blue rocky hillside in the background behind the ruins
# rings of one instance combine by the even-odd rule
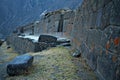
[[[33,22],[44,11],[75,9],[82,0],[1,0],[0,35],[8,35],[15,27]]]

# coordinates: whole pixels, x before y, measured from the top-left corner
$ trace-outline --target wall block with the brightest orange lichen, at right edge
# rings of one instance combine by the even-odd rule
[[[108,37],[106,49],[114,54],[120,55],[120,28],[117,26],[109,26],[104,30]]]

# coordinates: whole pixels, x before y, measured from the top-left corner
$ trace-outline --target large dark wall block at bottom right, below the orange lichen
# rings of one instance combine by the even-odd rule
[[[114,55],[106,55],[106,51],[97,59],[97,71],[105,80],[115,80],[116,76],[116,61]]]

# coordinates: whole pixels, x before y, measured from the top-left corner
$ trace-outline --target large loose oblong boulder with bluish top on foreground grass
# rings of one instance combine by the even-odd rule
[[[32,62],[33,56],[29,54],[17,56],[10,63],[7,64],[7,74],[9,76],[23,74],[32,65]]]

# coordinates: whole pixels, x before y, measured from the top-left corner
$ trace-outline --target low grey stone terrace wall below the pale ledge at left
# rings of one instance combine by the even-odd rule
[[[34,40],[29,38],[20,37],[13,34],[7,38],[7,44],[12,46],[15,51],[20,54],[25,54],[28,52],[38,52],[49,47],[47,43],[44,42],[34,42]]]

